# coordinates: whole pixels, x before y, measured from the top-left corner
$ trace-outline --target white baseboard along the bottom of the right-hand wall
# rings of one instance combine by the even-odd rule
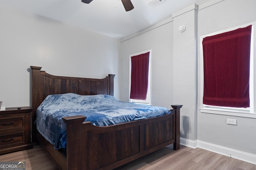
[[[238,160],[242,160],[244,162],[249,162],[251,164],[256,164],[256,155],[250,154],[248,152],[243,152],[236,149],[231,149],[227,147],[222,147],[219,145],[214,145],[212,143],[207,143],[204,141],[192,141],[189,139],[180,138],[180,145],[184,145],[186,147],[190,147],[193,149],[201,148],[205,150],[209,150],[211,152],[215,152],[218,154],[222,154],[225,156],[229,156]]]

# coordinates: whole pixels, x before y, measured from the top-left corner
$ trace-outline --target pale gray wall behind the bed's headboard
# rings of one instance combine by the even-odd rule
[[[30,69],[49,74],[104,78],[116,74],[119,97],[120,40],[0,5],[0,101],[30,106]]]

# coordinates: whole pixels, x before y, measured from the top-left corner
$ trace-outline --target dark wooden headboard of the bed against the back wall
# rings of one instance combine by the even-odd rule
[[[106,78],[76,78],[53,76],[41,71],[42,67],[30,66],[32,69],[32,123],[36,119],[36,109],[50,94],[76,93],[80,95],[108,94],[114,96],[114,76]],[[32,126],[32,140],[36,129]]]

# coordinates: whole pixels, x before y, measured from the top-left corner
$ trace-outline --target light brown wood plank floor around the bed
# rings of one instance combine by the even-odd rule
[[[256,165],[204,149],[172,145],[120,166],[115,170],[256,170]],[[40,144],[34,148],[0,155],[0,161],[25,161],[26,170],[56,170]]]

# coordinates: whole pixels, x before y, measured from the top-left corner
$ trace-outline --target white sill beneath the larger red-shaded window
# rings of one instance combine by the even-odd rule
[[[256,113],[249,113],[246,111],[232,111],[232,110],[221,110],[221,109],[209,109],[209,108],[200,108],[201,113],[211,113],[218,115],[229,115],[229,116],[238,116],[238,117],[250,117],[256,119]]]

